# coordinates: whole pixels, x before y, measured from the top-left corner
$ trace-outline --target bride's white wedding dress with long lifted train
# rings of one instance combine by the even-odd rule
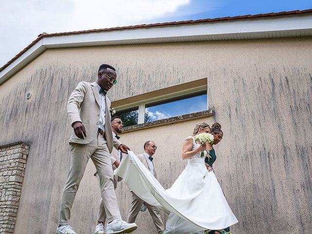
[[[194,150],[199,144],[192,139]],[[215,173],[207,171],[204,158],[199,153],[188,159],[183,172],[167,190],[132,151],[122,158],[115,175],[123,177],[142,200],[170,214],[165,233],[202,234],[204,230],[220,230],[238,222]]]

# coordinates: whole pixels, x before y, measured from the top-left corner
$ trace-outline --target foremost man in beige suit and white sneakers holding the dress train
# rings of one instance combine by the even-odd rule
[[[101,196],[107,215],[106,234],[131,233],[137,229],[135,223],[121,219],[114,190],[112,159],[113,147],[123,153],[129,149],[113,137],[110,126],[110,100],[107,91],[116,84],[116,69],[102,64],[98,69],[98,80],[93,83],[79,82],[67,103],[67,112],[73,134],[70,170],[64,186],[59,213],[57,234],[76,234],[68,225],[70,211],[89,158],[97,168]]]

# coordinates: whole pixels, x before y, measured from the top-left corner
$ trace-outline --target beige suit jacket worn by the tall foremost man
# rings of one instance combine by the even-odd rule
[[[112,152],[113,147],[116,149],[121,145],[121,142],[113,137],[111,129],[111,115],[109,112],[111,101],[105,96],[105,125],[104,134],[107,141],[109,153]],[[67,113],[72,125],[76,121],[82,122],[86,129],[87,137],[79,139],[73,131],[69,142],[78,144],[90,143],[98,134],[99,123],[99,93],[96,82],[90,83],[81,81],[78,83],[76,89],[70,95],[67,102]]]

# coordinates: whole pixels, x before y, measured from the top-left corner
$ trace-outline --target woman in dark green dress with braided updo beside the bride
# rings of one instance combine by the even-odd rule
[[[213,145],[216,145],[222,140],[223,132],[221,130],[221,125],[219,123],[214,123],[211,126],[211,134],[215,138]],[[209,150],[209,156],[206,156],[205,158],[205,164],[208,170],[213,170],[213,164],[215,160],[216,160],[215,149],[213,146],[211,146],[211,149]],[[223,230],[212,230],[208,234],[226,234],[228,232],[230,232],[230,227]]]

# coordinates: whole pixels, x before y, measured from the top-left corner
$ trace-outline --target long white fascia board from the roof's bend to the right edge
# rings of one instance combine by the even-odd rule
[[[72,34],[43,39],[42,45],[47,48],[89,46],[92,44],[126,44],[128,43],[150,43],[165,41],[194,40],[200,36],[210,36],[213,39],[224,39],[224,35],[257,33],[270,33],[293,30],[312,30],[312,15],[300,15],[289,17],[259,18],[247,20],[219,21],[195,24],[182,24],[150,28],[125,29],[117,31],[93,32],[87,34]],[[239,38],[239,37],[238,37]],[[154,39],[154,40],[153,40]],[[209,40],[209,38],[207,38]],[[118,43],[119,42],[119,43]],[[80,44],[80,45],[79,45]]]

